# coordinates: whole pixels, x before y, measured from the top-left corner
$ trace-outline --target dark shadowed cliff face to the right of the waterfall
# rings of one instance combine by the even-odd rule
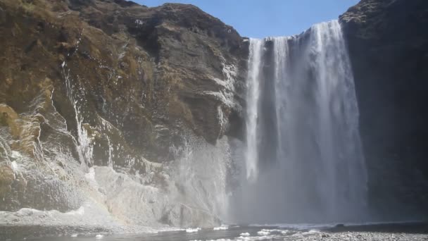
[[[363,0],[340,16],[374,208],[427,213],[428,2]],[[407,208],[403,208],[407,206]]]

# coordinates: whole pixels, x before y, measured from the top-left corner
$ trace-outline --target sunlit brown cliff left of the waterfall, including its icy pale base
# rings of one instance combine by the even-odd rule
[[[1,210],[220,222],[248,51],[232,27],[190,5],[1,0],[0,42]]]

